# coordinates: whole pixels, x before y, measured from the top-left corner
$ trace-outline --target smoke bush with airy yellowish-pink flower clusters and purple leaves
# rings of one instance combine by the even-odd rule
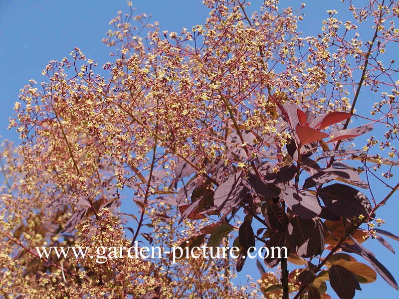
[[[399,3],[349,1],[354,20],[328,11],[320,34],[308,37],[298,30],[305,4],[264,1],[252,15],[245,1],[204,4],[203,25],[160,32],[129,3],[104,39],[115,58],[102,66],[108,78],[75,48],[49,62],[45,82],[21,90],[9,127],[22,141],[3,147],[2,296],[255,298],[260,290],[326,299],[329,281],[346,299],[377,273],[398,289],[361,243],[377,238],[392,250],[383,236],[399,239],[375,227],[399,188],[389,180],[399,163],[398,69],[384,54],[398,41]],[[370,20],[373,35],[362,39],[358,26]],[[356,112],[366,88],[381,95],[371,116]],[[374,127],[386,131],[382,141]],[[356,149],[350,142],[361,135],[368,143]],[[372,154],[378,145],[388,157]],[[373,192],[372,176],[387,194]],[[137,213],[118,212],[130,198]],[[136,241],[223,244],[239,254],[98,265],[40,259],[32,249]],[[255,244],[286,247],[289,257],[265,258],[259,286],[236,287],[231,278]]]

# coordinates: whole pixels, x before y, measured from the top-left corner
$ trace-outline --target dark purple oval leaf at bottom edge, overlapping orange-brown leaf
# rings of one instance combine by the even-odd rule
[[[329,271],[330,285],[341,299],[352,299],[355,290],[362,290],[355,275],[340,265],[332,265]]]

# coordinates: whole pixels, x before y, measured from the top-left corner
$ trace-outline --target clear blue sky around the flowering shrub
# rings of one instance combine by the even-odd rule
[[[208,8],[201,0],[137,0],[133,6],[138,12],[153,15],[162,30],[179,31],[181,27],[191,28],[201,24],[208,15]],[[256,8],[260,1],[253,0]],[[290,2],[290,1],[288,1]],[[301,1],[292,1],[300,5]],[[327,9],[335,8],[344,12],[341,1],[303,0],[306,3],[305,20],[301,29],[306,35],[317,34],[321,20],[328,17]],[[18,142],[15,131],[7,131],[8,117],[12,114],[19,90],[29,79],[43,80],[41,70],[49,60],[60,60],[68,56],[74,47],[79,47],[88,58],[99,65],[111,60],[101,39],[110,28],[108,21],[118,10],[127,10],[124,0],[0,0],[0,136]],[[340,16],[340,14],[338,15]],[[376,96],[376,95],[373,95]],[[372,101],[373,103],[376,102]],[[383,192],[385,194],[387,192]],[[377,190],[378,196],[378,190]],[[383,229],[399,234],[398,195],[379,210],[380,217],[386,220]],[[399,252],[398,243],[388,240]],[[399,257],[392,255],[376,240],[365,243],[376,253],[377,258],[399,281]],[[360,257],[356,259],[362,261]],[[258,279],[259,274],[253,265],[244,266],[243,277],[250,274]],[[244,281],[244,280],[243,280]],[[363,292],[355,298],[399,298],[399,292],[392,289],[378,277],[374,284],[361,285]],[[335,297],[329,287],[329,294]]]

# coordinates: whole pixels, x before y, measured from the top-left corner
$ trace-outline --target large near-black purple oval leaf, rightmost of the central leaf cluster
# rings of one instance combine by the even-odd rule
[[[366,195],[348,185],[328,185],[319,189],[317,195],[331,212],[347,218],[369,215],[372,209]]]

